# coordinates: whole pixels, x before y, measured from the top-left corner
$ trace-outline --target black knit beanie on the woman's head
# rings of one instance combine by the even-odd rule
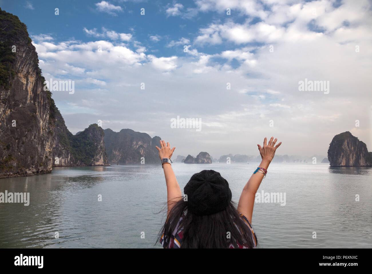
[[[187,208],[199,216],[225,210],[231,201],[227,180],[214,170],[195,173],[183,192],[187,195]]]

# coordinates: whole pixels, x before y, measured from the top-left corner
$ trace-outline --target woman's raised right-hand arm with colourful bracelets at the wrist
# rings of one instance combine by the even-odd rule
[[[280,142],[278,145],[274,147],[278,139],[275,138],[274,141],[273,139],[274,137],[271,137],[269,143],[266,145],[267,138],[265,137],[263,141],[263,147],[257,145],[262,158],[262,161],[258,167],[267,169],[269,167],[269,164],[273,160],[276,149],[280,146],[280,144],[282,144],[282,142]],[[246,216],[250,223],[252,222],[254,197],[261,184],[263,177],[264,177],[263,173],[256,172],[252,174],[240,195],[238,212]]]

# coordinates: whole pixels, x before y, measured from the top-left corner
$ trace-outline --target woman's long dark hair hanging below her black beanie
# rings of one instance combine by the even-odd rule
[[[176,227],[179,221],[180,224]],[[164,246],[168,248],[169,242],[174,237],[174,230],[179,228],[183,231],[180,248],[228,248],[230,244],[238,248],[237,243],[247,248],[256,246],[253,233],[240,217],[234,202],[230,202],[223,211],[198,216],[187,210],[187,201],[180,197],[170,210],[157,242],[164,233]],[[230,232],[230,239],[227,237],[228,232]]]

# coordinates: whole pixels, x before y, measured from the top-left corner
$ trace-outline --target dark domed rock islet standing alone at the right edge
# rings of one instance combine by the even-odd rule
[[[371,166],[367,146],[349,131],[333,137],[328,148],[328,160],[331,167]]]

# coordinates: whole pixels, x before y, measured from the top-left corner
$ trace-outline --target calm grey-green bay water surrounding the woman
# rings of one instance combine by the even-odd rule
[[[172,166],[182,192],[192,174],[219,171],[238,202],[257,163]],[[29,192],[31,199],[29,206],[0,204],[1,248],[161,248],[154,245],[165,221],[165,212],[157,214],[167,197],[161,166],[60,167],[1,179],[5,190]],[[286,204],[255,203],[260,248],[372,248],[371,168],[272,163],[262,190],[285,192]]]

